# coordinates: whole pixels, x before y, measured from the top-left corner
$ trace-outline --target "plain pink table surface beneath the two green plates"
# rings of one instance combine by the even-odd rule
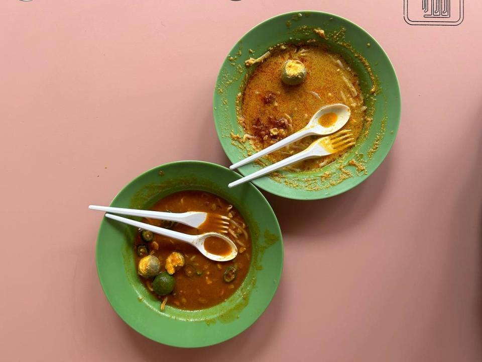
[[[227,165],[211,103],[221,62],[248,29],[300,9],[346,17],[387,51],[395,145],[344,195],[267,195],[285,265],[251,328],[195,350],[155,343],[102,293],[87,205],[165,162]],[[481,33],[478,0],[456,27],[410,26],[402,0],[2,1],[0,360],[482,360]]]

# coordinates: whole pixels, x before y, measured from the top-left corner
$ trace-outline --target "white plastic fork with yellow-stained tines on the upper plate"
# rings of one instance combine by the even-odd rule
[[[339,131],[333,135],[323,137],[314,141],[304,151],[294,154],[279,162],[273,163],[265,168],[262,168],[252,174],[239,178],[228,185],[229,188],[244,184],[252,179],[258,178],[265,174],[271,173],[282,167],[288,166],[292,163],[302,161],[308,158],[327,156],[329,154],[342,151],[355,144],[351,130]]]

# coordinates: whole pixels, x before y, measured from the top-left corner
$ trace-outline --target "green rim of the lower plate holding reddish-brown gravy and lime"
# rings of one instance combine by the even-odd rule
[[[130,182],[111,206],[146,209],[183,190],[216,194],[242,213],[252,234],[253,255],[242,286],[212,308],[185,311],[166,306],[149,293],[137,276],[133,255],[136,229],[106,218],[97,238],[97,272],[105,296],[132,328],[157,342],[201,347],[234,337],[253,324],[273,298],[283,268],[283,241],[271,206],[251,184],[228,189],[239,175],[208,162],[180,161],[153,168]]]

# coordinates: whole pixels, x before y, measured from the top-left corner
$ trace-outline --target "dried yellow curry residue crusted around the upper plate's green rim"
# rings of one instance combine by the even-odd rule
[[[296,21],[295,19],[293,20]],[[286,26],[290,28],[291,22],[287,22]],[[376,101],[375,97],[381,93],[380,81],[376,76],[376,74],[373,72],[370,63],[361,53],[357,52],[348,41],[346,41],[345,28],[340,28],[336,31],[330,32],[330,31],[324,31],[323,29],[320,29],[317,27],[301,26],[291,30],[291,33],[303,34],[305,36],[314,35],[313,38],[310,38],[304,42],[301,42],[300,44],[318,45],[318,44],[323,44],[323,41],[325,39],[330,40],[331,42],[334,42],[349,50],[353,54],[353,56],[356,57],[360,61],[360,63],[363,64],[368,75],[370,76],[371,88],[368,94],[364,93],[367,109],[363,120],[363,132],[357,140],[357,145],[361,144],[365,139],[369,137],[370,128],[373,121],[373,115],[375,111],[375,108],[374,108],[374,104]],[[279,43],[274,45],[273,47],[270,47],[268,51],[260,57],[253,58],[252,56],[250,56],[250,58],[245,61],[245,66],[249,68],[256,63],[263,62],[269,56],[272,55],[273,51],[275,51],[276,49],[283,49],[284,47],[286,47],[285,43]],[[370,47],[369,43],[367,44],[367,47]],[[253,54],[254,51],[250,49],[249,53]],[[236,57],[228,56],[228,59],[231,58],[229,59],[231,61],[231,65],[236,67],[237,72],[234,74],[234,76],[230,76],[227,73],[221,74],[220,81],[217,84],[218,94],[220,95],[226,94],[227,87],[231,85],[233,81],[239,80],[243,76],[244,69],[242,68],[240,69],[239,64],[236,65],[234,62],[235,58],[241,55],[242,55],[242,51],[241,51],[241,48],[239,47],[239,50],[236,52]],[[249,76],[250,76],[250,72],[247,72],[244,75],[244,79],[242,79],[240,90],[244,89]],[[236,101],[235,101],[237,120],[240,125],[242,125],[244,121],[240,112],[242,97],[243,97],[242,92],[239,92],[236,95]],[[228,113],[227,97],[223,98],[222,103],[224,107],[223,111],[225,113],[226,118],[228,118],[229,113]],[[367,154],[359,152],[357,150],[357,145],[355,145],[353,148],[354,152],[352,151],[352,152],[346,153],[343,157],[331,163],[335,165],[334,170],[330,169],[330,171],[325,171],[321,174],[316,174],[316,175],[313,174],[313,172],[295,172],[295,173],[294,172],[273,172],[270,174],[269,177],[275,180],[276,182],[283,183],[291,188],[304,189],[307,191],[320,191],[320,190],[329,189],[331,186],[338,185],[341,182],[343,182],[345,179],[353,177],[353,175],[368,174],[367,162],[368,160],[372,159],[374,154],[377,152],[380,142],[385,136],[386,124],[387,124],[387,117],[385,116],[382,119],[381,128],[377,132],[375,136],[375,140],[370,145],[370,148],[367,151]],[[231,144],[239,148],[240,151],[242,151],[243,157],[247,157],[253,154],[255,151],[251,144],[252,140],[249,137],[249,135],[236,134],[232,132],[232,129],[229,129],[228,127],[229,127],[228,125],[224,125],[222,133],[224,136],[230,137]],[[258,162],[264,165],[267,164],[266,161],[264,160],[258,160]],[[323,167],[321,167],[318,170],[318,173],[323,169]]]

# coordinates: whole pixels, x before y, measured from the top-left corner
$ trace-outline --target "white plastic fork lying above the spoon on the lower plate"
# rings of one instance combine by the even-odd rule
[[[162,211],[151,211],[151,210],[136,210],[136,209],[125,209],[125,208],[115,208],[109,206],[97,206],[90,205],[90,210],[99,210],[104,212],[110,212],[114,214],[130,215],[130,216],[140,216],[150,219],[168,220],[175,221],[184,225],[188,225],[194,228],[201,226],[208,217],[215,218],[212,225],[216,227],[217,230],[223,233],[227,233],[229,228],[229,218],[227,216],[205,213],[201,211],[188,211],[184,213],[170,213]]]

